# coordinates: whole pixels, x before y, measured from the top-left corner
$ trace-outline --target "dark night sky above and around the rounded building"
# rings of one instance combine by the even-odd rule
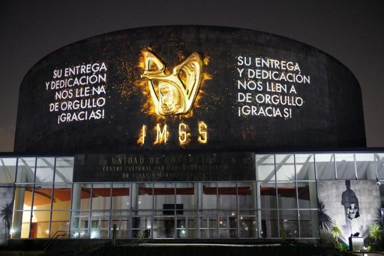
[[[39,59],[93,35],[168,24],[249,28],[329,53],[360,83],[367,146],[384,146],[383,13],[382,0],[2,0],[0,151],[13,151],[19,85]]]

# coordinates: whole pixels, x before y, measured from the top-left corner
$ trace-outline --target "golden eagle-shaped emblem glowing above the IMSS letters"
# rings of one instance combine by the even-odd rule
[[[202,58],[197,52],[173,67],[172,73],[166,74],[164,62],[152,52],[146,51],[144,68],[141,77],[147,79],[156,114],[186,114],[192,109],[203,69]]]

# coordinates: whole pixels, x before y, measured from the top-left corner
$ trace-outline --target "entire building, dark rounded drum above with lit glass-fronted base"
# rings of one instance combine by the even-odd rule
[[[366,234],[384,153],[365,145],[356,78],[314,47],[215,26],[102,34],[25,75],[2,230],[316,240],[334,220],[347,234],[353,200]]]

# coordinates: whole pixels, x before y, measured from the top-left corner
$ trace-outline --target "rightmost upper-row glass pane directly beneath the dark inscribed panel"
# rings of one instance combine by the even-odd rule
[[[239,209],[257,208],[255,182],[237,182],[237,207]]]

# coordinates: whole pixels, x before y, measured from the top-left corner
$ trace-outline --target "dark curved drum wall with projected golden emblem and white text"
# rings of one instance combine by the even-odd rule
[[[98,35],[45,56],[20,86],[19,152],[350,146],[365,146],[353,74],[316,48],[258,31]]]

